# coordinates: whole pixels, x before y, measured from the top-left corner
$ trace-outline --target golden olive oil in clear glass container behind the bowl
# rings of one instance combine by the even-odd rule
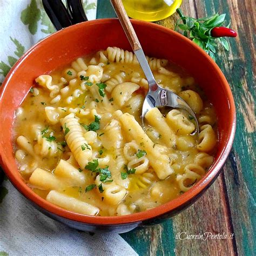
[[[123,0],[127,15],[142,21],[159,21],[174,14],[182,0]]]

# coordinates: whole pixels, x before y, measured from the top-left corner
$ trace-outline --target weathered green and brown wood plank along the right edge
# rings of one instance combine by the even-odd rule
[[[238,38],[232,51],[222,52],[217,63],[231,85],[237,107],[237,132],[233,151],[224,168],[235,241],[240,255],[255,253],[255,2],[215,1],[206,11],[230,15]],[[254,72],[253,72],[254,71]]]

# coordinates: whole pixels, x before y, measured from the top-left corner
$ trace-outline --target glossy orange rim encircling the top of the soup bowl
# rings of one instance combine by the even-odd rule
[[[93,21],[87,21],[86,23],[89,23],[90,25],[97,24],[97,23],[112,23],[116,22],[116,18],[107,18],[107,19],[96,19]],[[132,20],[133,24],[142,24],[145,26],[149,26],[151,29],[164,31],[166,33],[170,33],[178,37],[179,39],[182,39],[184,41],[187,41],[187,43],[191,44],[194,48],[197,49],[201,53],[201,55],[204,55],[205,58],[207,58],[208,62],[211,63],[211,65],[215,68],[218,75],[220,76],[221,80],[223,81],[225,91],[227,93],[227,100],[230,104],[230,116],[232,117],[232,125],[231,129],[228,130],[228,136],[227,140],[225,142],[225,146],[223,147],[220,156],[218,159],[215,159],[214,164],[211,166],[210,170],[206,173],[206,175],[196,184],[194,185],[190,190],[185,192],[184,194],[180,195],[178,198],[173,199],[169,201],[168,203],[165,203],[163,205],[157,206],[155,208],[152,208],[151,210],[133,213],[129,215],[122,215],[122,216],[90,216],[90,215],[83,215],[75,212],[71,212],[68,210],[65,210],[64,208],[60,208],[56,205],[53,205],[46,201],[45,199],[39,197],[35,192],[33,192],[28,185],[25,184],[22,179],[17,179],[15,176],[15,173],[12,172],[8,167],[8,159],[3,154],[2,146],[0,145],[0,156],[2,157],[2,163],[4,167],[4,172],[6,173],[6,176],[10,179],[11,183],[17,188],[19,192],[23,194],[27,199],[35,203],[37,206],[43,208],[44,210],[56,214],[59,217],[63,217],[69,220],[78,221],[85,224],[94,224],[94,225],[120,225],[120,224],[131,224],[131,223],[139,223],[145,220],[154,219],[157,217],[160,217],[161,215],[168,214],[170,212],[179,210],[180,208],[185,207],[191,200],[199,196],[199,194],[206,190],[208,186],[210,186],[214,179],[217,178],[221,167],[225,164],[226,158],[228,157],[228,154],[231,151],[234,134],[235,134],[235,105],[234,105],[234,99],[232,96],[232,92],[230,89],[230,86],[227,83],[227,80],[221,70],[219,69],[218,65],[213,61],[213,59],[207,55],[207,53],[201,49],[198,45],[194,44],[190,39],[184,37],[183,35],[180,35],[179,33],[165,28],[164,26],[160,26],[158,24],[144,22],[144,21],[137,21]],[[6,85],[8,85],[9,80],[12,77],[12,73],[15,72],[16,69],[19,68],[19,66],[22,64],[23,60],[26,58],[26,56],[30,55],[36,48],[38,44],[44,44],[46,40],[49,40],[51,38],[58,37],[61,33],[69,33],[72,30],[76,29],[77,26],[83,26],[84,23],[79,23],[76,25],[72,25],[68,28],[65,28],[63,30],[57,31],[56,33],[53,33],[52,35],[46,37],[41,42],[37,43],[36,45],[32,46],[19,60],[18,62],[12,67],[8,75],[6,76],[4,83],[2,85],[3,90],[1,92],[0,99],[2,98],[2,95],[5,91]]]

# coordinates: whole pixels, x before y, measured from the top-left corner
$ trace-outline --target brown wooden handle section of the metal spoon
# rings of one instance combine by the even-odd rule
[[[142,46],[139,43],[139,39],[133,29],[130,19],[126,14],[122,0],[111,0],[111,4],[117,14],[117,17],[119,18],[121,25],[123,26],[126,36],[132,46],[132,50],[136,51],[142,49]]]

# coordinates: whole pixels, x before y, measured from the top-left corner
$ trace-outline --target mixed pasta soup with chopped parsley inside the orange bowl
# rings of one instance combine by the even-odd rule
[[[88,215],[149,210],[188,191],[213,163],[213,106],[179,67],[147,58],[157,82],[181,96],[199,121],[178,109],[140,120],[147,81],[136,57],[119,48],[78,58],[42,75],[16,111],[19,171],[42,198]]]

